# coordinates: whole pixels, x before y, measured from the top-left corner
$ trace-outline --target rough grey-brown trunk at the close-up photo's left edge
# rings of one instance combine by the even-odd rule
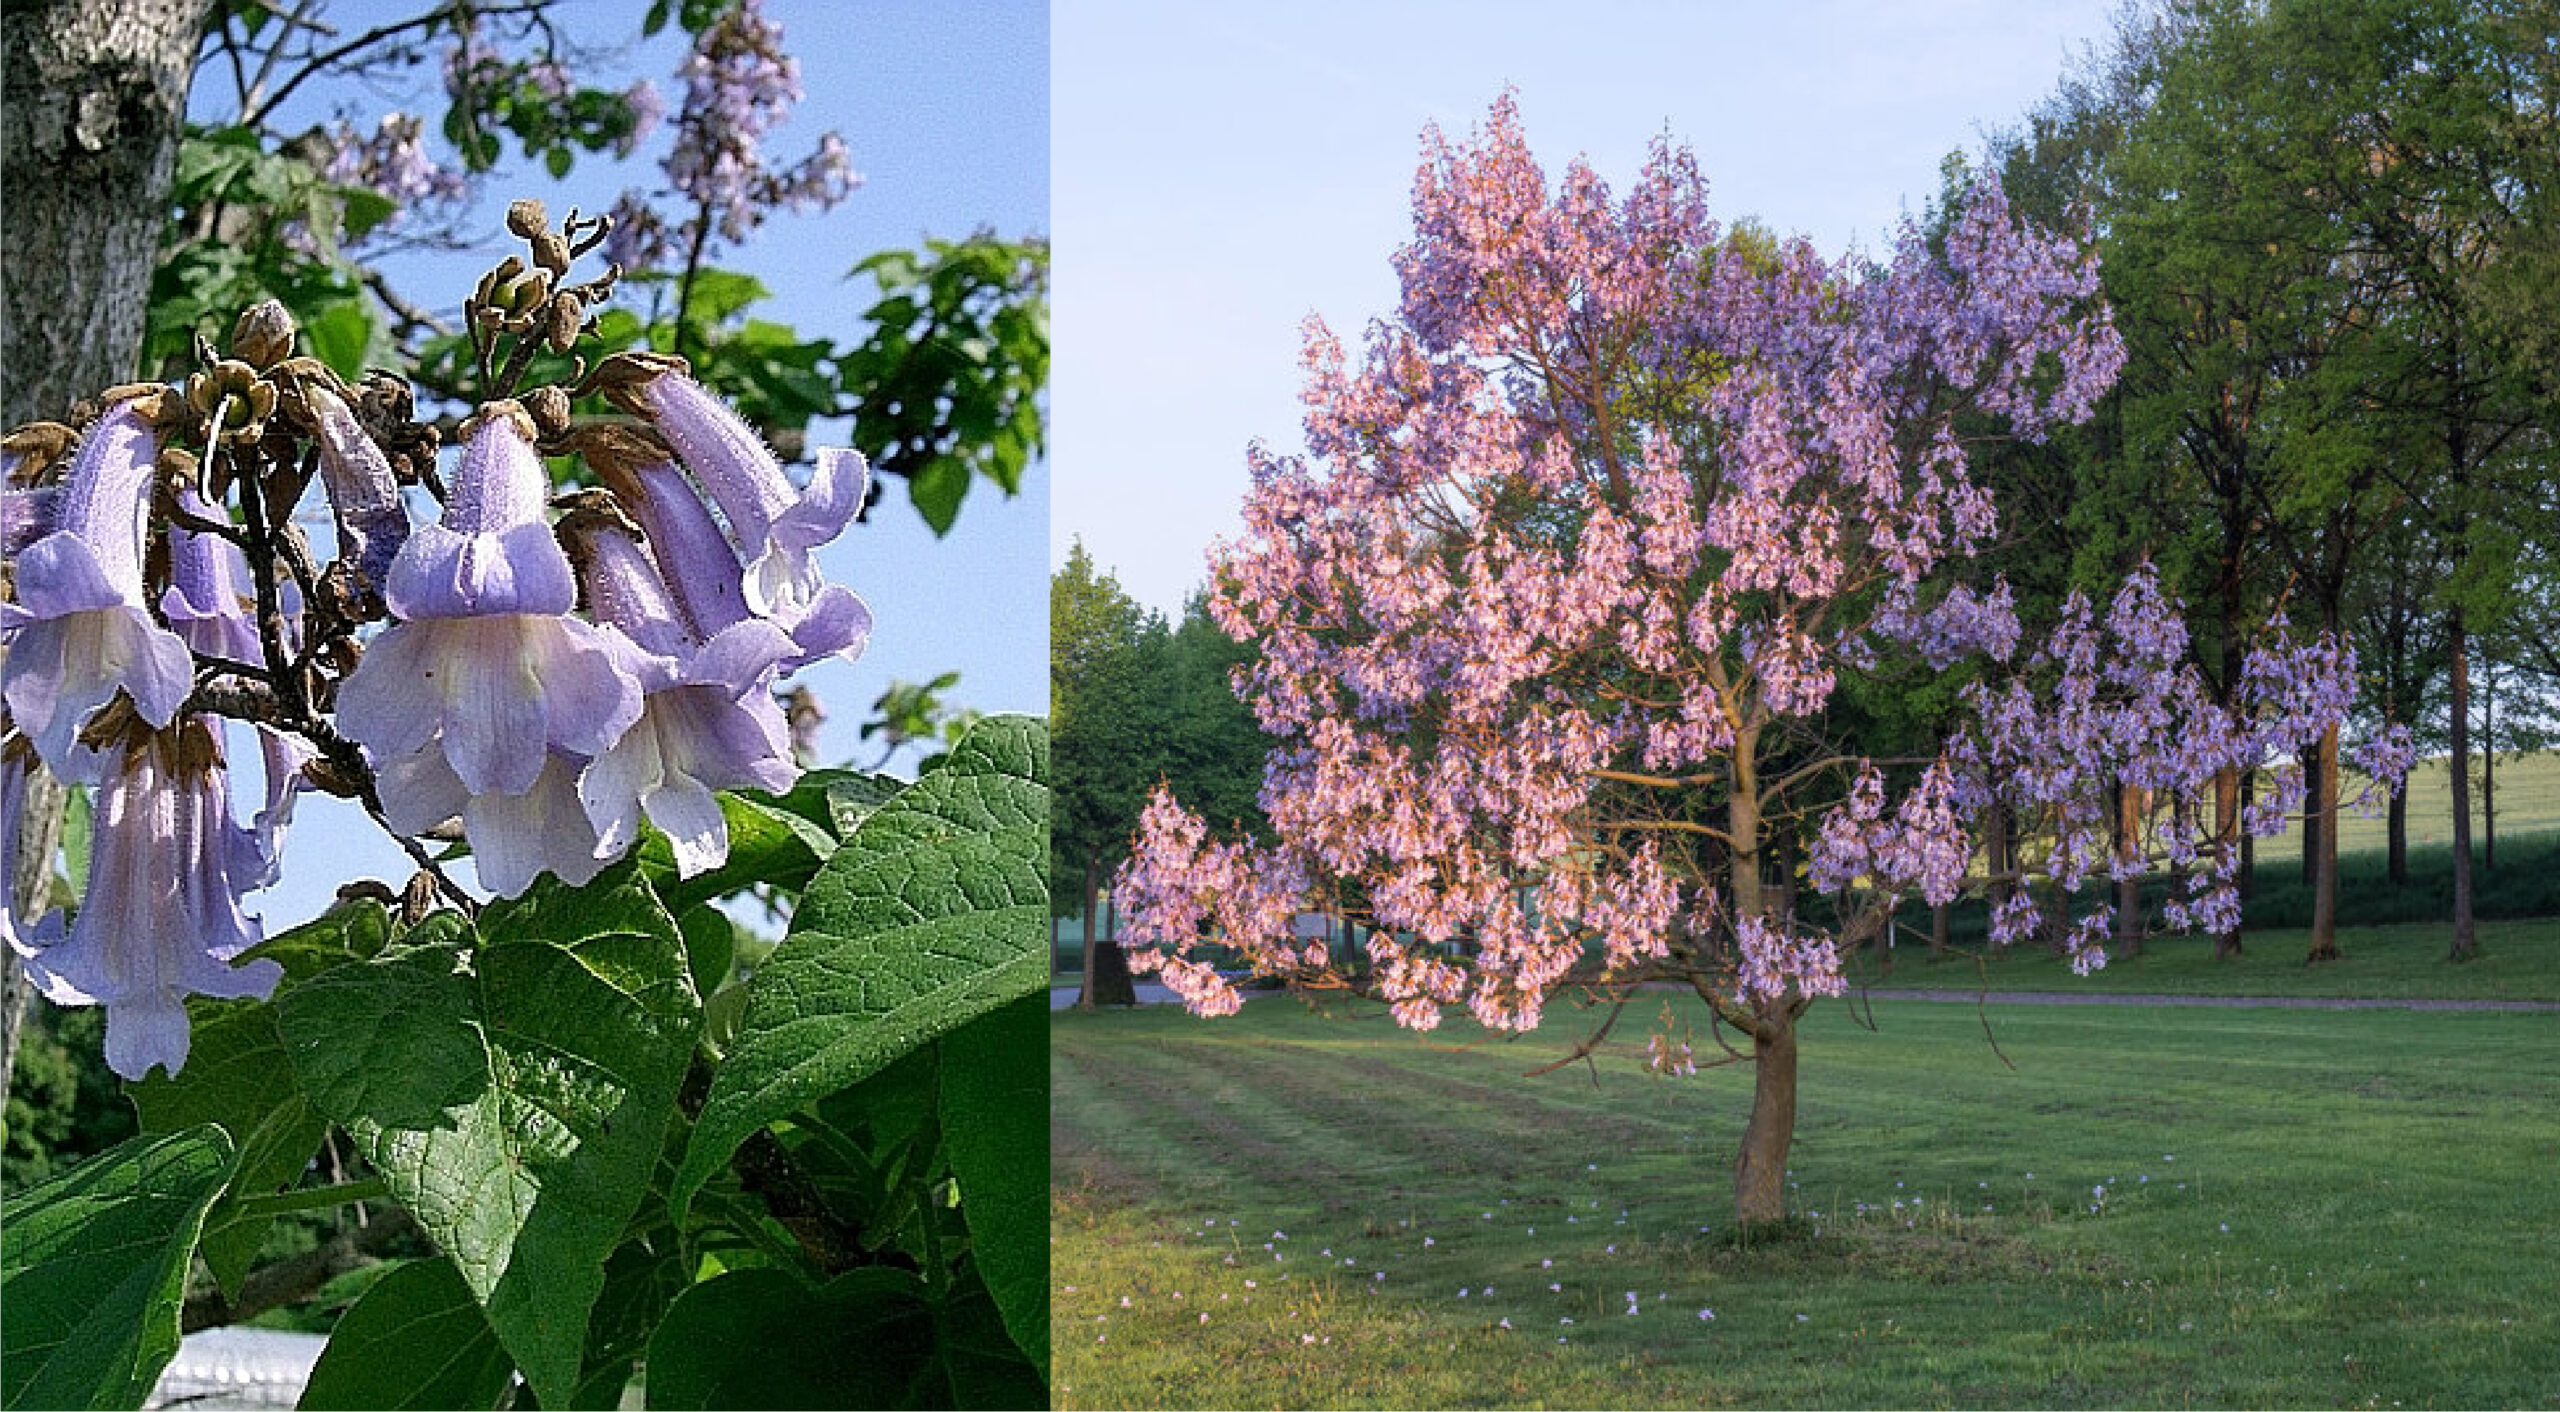
[[[212,0],[10,0],[0,13],[0,430],[133,381],[143,307]],[[61,836],[28,790],[23,854]],[[18,954],[0,946],[0,1092],[18,1064]]]

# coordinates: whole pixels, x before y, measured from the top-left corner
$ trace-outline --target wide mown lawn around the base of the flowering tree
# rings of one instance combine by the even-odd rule
[[[1971,1008],[1874,1016],[1807,1018],[1797,1218],[1748,1243],[1748,1067],[1636,1067],[1695,1003],[1539,1079],[1597,1016],[1055,1016],[1057,1402],[2560,1397],[2560,1018],[1992,1008],[2010,1069]]]

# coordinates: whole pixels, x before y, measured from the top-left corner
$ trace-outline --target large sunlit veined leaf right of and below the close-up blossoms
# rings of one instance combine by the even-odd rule
[[[1039,721],[980,721],[827,859],[748,985],[678,1218],[755,1128],[1047,987],[1047,757]]]

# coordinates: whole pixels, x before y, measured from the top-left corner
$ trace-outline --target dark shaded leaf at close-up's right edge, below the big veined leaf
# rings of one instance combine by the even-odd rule
[[[1050,1000],[942,1036],[942,1146],[1004,1328],[1050,1366]]]

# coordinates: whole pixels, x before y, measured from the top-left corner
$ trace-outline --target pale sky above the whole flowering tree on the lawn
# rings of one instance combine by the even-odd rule
[[[1938,161],[2022,118],[2112,10],[1062,0],[1050,563],[1083,537],[1180,609],[1247,443],[1300,445],[1298,322],[1354,340],[1393,307],[1423,123],[1462,136],[1510,84],[1549,176],[1585,153],[1623,187],[1672,133],[1720,217],[1884,251]]]

